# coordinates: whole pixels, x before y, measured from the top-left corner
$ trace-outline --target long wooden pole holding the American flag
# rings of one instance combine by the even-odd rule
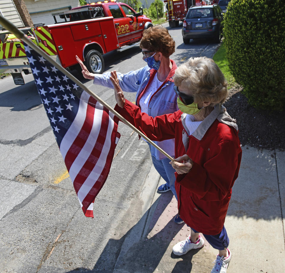
[[[41,50],[34,42],[32,42],[29,38],[25,36],[25,34],[19,30],[15,25],[10,23],[7,19],[5,19],[2,15],[0,15],[0,23],[1,25],[9,30],[9,32],[13,33],[17,38],[24,41],[29,47],[34,49],[37,53],[42,55],[48,62],[54,65],[58,70],[64,73],[68,78],[74,81],[79,87],[85,90],[90,96],[94,97],[98,102],[100,102],[103,106],[105,106],[111,113],[117,116],[121,121],[123,121],[126,125],[131,127],[137,134],[142,136],[145,140],[147,140],[153,147],[155,147],[159,152],[164,154],[171,161],[174,159],[167,154],[164,150],[162,150],[159,146],[157,146],[153,141],[151,141],[147,136],[145,136],[141,131],[139,131],[136,127],[134,127],[129,121],[123,118],[118,112],[116,112],[110,105],[108,105],[105,101],[103,101],[100,97],[94,94],[88,87],[86,87],[83,83],[81,83],[77,78],[75,78],[72,74],[70,74],[65,68],[59,65],[56,61],[54,61],[49,55],[47,55],[43,50]]]

